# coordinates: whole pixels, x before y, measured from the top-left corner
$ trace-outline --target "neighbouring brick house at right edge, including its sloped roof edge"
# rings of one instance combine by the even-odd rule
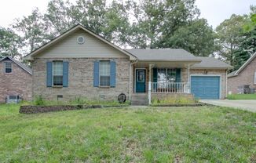
[[[240,85],[250,85],[256,89],[256,53],[237,71],[228,75],[228,90],[230,93],[239,93]]]

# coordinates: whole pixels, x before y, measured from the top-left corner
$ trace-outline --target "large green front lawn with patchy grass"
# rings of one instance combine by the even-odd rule
[[[18,114],[0,105],[0,162],[255,162],[256,114],[224,107]]]

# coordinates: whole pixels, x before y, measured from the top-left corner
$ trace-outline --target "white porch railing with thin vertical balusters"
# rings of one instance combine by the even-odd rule
[[[150,82],[152,93],[189,93],[188,82]],[[148,88],[149,89],[149,88]]]

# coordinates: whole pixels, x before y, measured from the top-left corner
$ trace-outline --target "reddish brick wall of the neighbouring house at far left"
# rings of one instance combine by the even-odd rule
[[[11,62],[10,60],[6,60]],[[21,96],[23,100],[31,100],[32,77],[27,71],[12,62],[13,71],[5,74],[5,61],[0,63],[0,103],[5,103],[8,95]]]

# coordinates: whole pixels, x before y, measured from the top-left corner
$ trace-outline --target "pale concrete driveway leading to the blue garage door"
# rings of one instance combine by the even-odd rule
[[[242,110],[256,112],[256,100],[200,100],[221,107],[234,107]]]

